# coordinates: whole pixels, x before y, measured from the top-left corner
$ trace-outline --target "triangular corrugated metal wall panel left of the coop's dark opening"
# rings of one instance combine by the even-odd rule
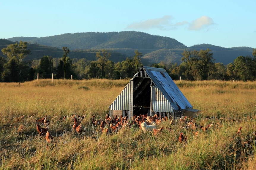
[[[117,96],[113,103],[109,106],[110,110],[130,110],[130,83]]]

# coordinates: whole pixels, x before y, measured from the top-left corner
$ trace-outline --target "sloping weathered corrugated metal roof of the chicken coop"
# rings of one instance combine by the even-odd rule
[[[147,72],[149,78],[171,103],[174,110],[192,108],[192,105],[173,82],[165,69],[146,66],[141,67],[140,70],[141,69],[144,69]]]

